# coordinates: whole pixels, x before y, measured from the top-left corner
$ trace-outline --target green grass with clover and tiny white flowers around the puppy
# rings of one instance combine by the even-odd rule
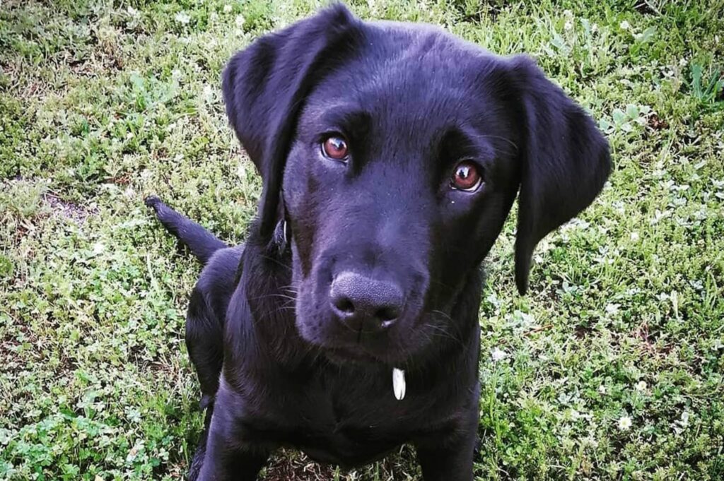
[[[182,341],[199,267],[156,193],[243,241],[260,185],[219,73],[311,0],[0,0],[0,479],[173,480],[201,427]],[[479,480],[724,479],[723,0],[356,1],[500,54],[586,106],[615,171],[536,252],[513,222],[480,323]],[[412,480],[279,454],[269,480]]]

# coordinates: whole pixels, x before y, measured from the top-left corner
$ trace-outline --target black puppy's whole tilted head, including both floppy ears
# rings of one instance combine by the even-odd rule
[[[224,71],[264,179],[259,234],[290,237],[300,335],[395,364],[450,312],[520,191],[515,280],[610,170],[594,122],[526,56],[341,6],[259,38]]]

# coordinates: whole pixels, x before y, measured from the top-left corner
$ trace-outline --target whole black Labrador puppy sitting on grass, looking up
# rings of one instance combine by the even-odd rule
[[[248,242],[147,201],[206,264],[191,478],[255,480],[279,446],[353,466],[412,443],[425,480],[471,480],[481,261],[520,190],[526,291],[536,243],[601,190],[607,142],[529,58],[341,6],[235,55],[223,90],[264,179]]]

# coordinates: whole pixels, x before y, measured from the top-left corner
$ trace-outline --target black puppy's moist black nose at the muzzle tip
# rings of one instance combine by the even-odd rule
[[[397,284],[342,272],[329,289],[332,310],[355,331],[379,332],[390,327],[403,310]]]

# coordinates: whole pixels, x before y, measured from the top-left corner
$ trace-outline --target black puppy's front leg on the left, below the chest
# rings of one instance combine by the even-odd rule
[[[256,481],[269,459],[264,446],[244,442],[235,422],[214,409],[198,481]]]

